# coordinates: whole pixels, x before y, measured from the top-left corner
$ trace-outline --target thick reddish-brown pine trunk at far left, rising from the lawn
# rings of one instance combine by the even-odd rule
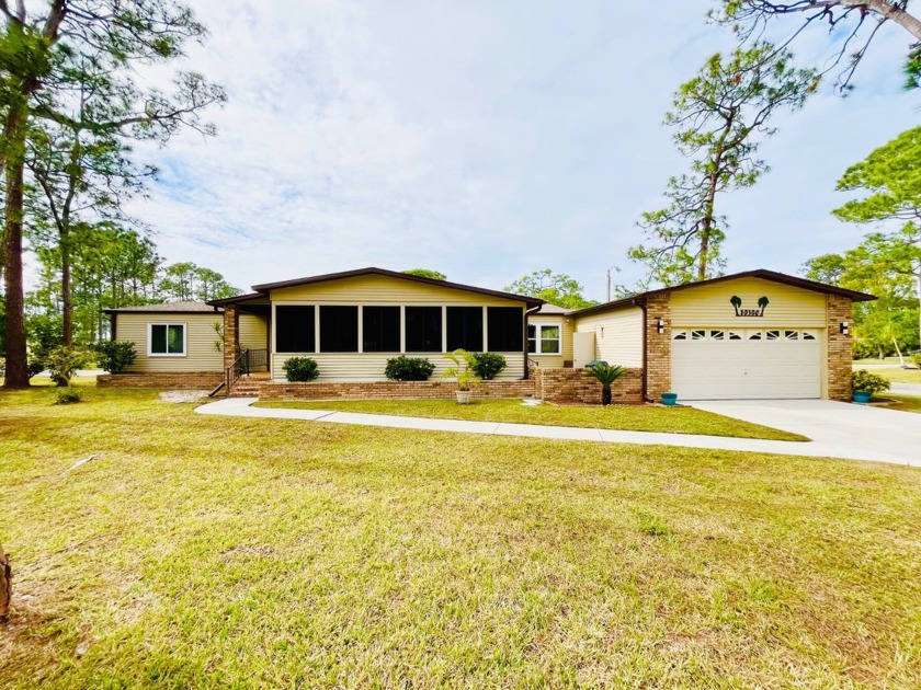
[[[14,148],[25,122],[24,108],[11,108],[4,131]],[[25,347],[25,311],[22,287],[23,161],[20,151],[7,157],[5,222],[3,227],[4,278],[7,285],[7,379],[3,388],[29,388]]]

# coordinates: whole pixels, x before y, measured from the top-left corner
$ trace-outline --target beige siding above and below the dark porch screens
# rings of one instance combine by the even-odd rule
[[[328,283],[298,285],[276,288],[271,291],[274,306],[284,304],[355,304],[355,306],[394,306],[394,307],[516,307],[524,312],[522,302],[477,295],[437,285],[428,285],[401,280],[388,276],[359,276]],[[488,325],[484,319],[484,342],[488,343]],[[274,345],[272,347],[274,350]],[[399,353],[284,353],[272,354],[272,377],[284,380],[282,365],[291,357],[311,357],[317,360],[321,381],[373,381],[384,378],[387,359]],[[437,378],[451,363],[442,353],[406,353],[411,357],[427,357],[435,365],[432,379]],[[502,353],[508,367],[498,379],[520,379],[524,377],[524,354]]]

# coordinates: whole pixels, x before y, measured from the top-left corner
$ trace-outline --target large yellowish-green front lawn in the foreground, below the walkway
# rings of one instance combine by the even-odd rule
[[[921,681],[917,469],[53,398],[0,392],[3,688]]]

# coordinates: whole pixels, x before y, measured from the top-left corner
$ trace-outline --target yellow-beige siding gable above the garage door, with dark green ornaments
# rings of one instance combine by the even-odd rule
[[[758,300],[770,301],[763,317],[737,317],[729,302],[742,300],[742,309],[758,309]],[[826,296],[812,290],[762,280],[739,278],[671,294],[671,327],[826,327]]]

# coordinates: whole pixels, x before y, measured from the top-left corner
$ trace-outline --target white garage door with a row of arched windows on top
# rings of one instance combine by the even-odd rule
[[[672,332],[679,400],[821,396],[816,329],[682,329]]]

